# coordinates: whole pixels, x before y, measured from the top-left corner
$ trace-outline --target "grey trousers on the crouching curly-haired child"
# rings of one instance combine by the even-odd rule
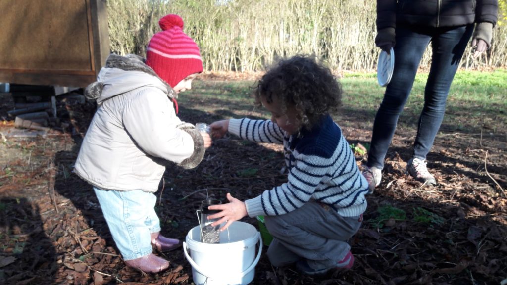
[[[314,269],[331,268],[350,251],[347,240],[363,221],[363,215],[342,217],[329,206],[310,200],[280,216],[265,216],[274,239],[268,248],[273,266],[306,259]]]

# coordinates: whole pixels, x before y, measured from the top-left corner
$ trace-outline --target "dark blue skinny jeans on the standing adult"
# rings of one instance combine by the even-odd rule
[[[398,118],[412,90],[423,53],[431,42],[431,67],[413,152],[413,157],[426,159],[444,119],[447,95],[473,31],[473,24],[451,28],[396,27],[394,70],[373,123],[369,167],[384,167]]]

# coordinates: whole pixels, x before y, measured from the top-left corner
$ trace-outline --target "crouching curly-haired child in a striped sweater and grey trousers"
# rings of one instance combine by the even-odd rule
[[[265,215],[274,239],[268,257],[274,266],[296,263],[305,274],[352,267],[347,240],[363,221],[368,182],[330,114],[341,105],[341,86],[331,70],[313,57],[281,60],[258,82],[258,104],[271,120],[228,119],[211,124],[214,137],[227,132],[257,142],[282,144],[287,182],[243,201],[227,194],[229,203],[214,225],[245,216]]]

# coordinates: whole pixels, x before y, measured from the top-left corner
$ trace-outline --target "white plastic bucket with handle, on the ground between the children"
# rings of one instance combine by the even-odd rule
[[[255,266],[261,258],[261,234],[254,226],[243,222],[233,222],[228,229],[220,233],[220,243],[201,242],[199,226],[192,228],[185,237],[183,251],[192,265],[196,285],[239,285],[253,280]]]

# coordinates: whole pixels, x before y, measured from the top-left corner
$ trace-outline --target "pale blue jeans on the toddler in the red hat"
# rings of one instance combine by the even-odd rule
[[[152,253],[151,233],[160,231],[157,197],[141,190],[114,191],[93,187],[107,226],[124,260]]]

